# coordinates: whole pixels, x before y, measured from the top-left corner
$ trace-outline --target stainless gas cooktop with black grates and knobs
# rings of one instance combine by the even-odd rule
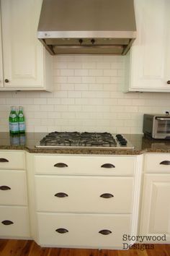
[[[123,135],[109,132],[50,132],[36,148],[125,148],[134,146]]]

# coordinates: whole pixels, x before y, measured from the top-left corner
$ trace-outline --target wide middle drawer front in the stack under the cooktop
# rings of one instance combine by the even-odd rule
[[[131,213],[133,177],[36,176],[38,211]]]

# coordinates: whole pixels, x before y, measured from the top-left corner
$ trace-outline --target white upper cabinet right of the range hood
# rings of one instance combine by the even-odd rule
[[[170,92],[169,14],[169,0],[135,0],[137,38],[125,91]]]

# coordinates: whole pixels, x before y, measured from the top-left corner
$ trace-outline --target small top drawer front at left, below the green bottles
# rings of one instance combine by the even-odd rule
[[[0,151],[0,168],[23,170],[25,168],[24,152]]]

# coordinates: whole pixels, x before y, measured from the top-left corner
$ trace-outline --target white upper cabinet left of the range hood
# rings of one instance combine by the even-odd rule
[[[4,82],[0,90],[52,89],[52,56],[37,39],[41,4],[42,0],[1,0]]]

